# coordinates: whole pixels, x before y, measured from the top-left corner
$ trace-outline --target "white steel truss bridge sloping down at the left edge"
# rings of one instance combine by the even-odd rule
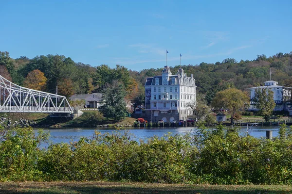
[[[66,97],[21,87],[0,75],[0,112],[73,113]]]

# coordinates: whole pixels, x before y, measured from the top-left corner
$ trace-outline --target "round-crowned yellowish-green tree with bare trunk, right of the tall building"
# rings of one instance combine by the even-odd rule
[[[218,92],[212,101],[212,105],[215,108],[225,108],[229,110],[231,114],[231,125],[233,125],[235,113],[245,110],[248,104],[249,97],[247,94],[235,88]]]

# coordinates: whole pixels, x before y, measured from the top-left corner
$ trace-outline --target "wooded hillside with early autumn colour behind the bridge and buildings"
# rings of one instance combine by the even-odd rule
[[[115,68],[108,65],[93,67],[76,63],[63,55],[40,55],[33,59],[20,56],[18,59],[12,59],[7,51],[0,51],[0,74],[3,77],[18,85],[30,87],[34,85],[30,81],[37,78],[42,84],[45,82],[41,85],[44,91],[55,93],[55,87],[58,86],[59,94],[67,97],[73,94],[102,92],[107,82],[117,80],[124,84],[128,99],[143,101],[146,78],[161,75],[163,66],[138,72],[121,65]],[[172,73],[175,74],[179,68],[179,65],[171,67]],[[253,61],[237,62],[235,59],[224,59],[215,64],[202,62],[200,65],[182,65],[182,68],[188,76],[193,74],[198,86],[197,91],[205,95],[208,103],[218,91],[227,88],[247,90],[268,81],[270,68],[272,80],[278,81],[279,85],[292,86],[292,52],[280,52],[270,57],[257,55]],[[36,69],[39,71],[34,71]]]

